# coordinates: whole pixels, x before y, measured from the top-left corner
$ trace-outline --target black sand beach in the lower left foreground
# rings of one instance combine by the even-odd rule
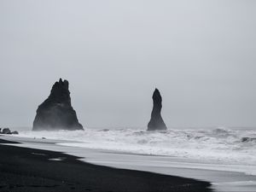
[[[0,153],[0,191],[211,191],[207,182],[95,166],[59,152],[0,144]]]

